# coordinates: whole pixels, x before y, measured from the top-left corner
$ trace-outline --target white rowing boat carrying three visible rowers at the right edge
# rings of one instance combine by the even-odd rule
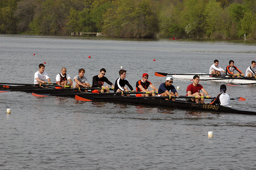
[[[170,75],[174,78],[179,78],[179,79],[193,79],[194,75],[198,75],[200,79],[204,80],[210,80],[210,81],[216,81],[216,82],[225,82],[225,83],[256,83],[256,79],[239,79],[239,78],[234,78],[234,79],[228,79],[229,77],[226,76],[218,76],[218,77],[210,77],[209,75],[205,75],[205,73],[195,73],[193,75]],[[227,78],[223,80],[223,78]],[[222,79],[222,80],[218,80]]]

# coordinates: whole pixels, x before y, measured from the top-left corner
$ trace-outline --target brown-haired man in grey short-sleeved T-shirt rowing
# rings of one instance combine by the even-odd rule
[[[73,78],[73,88],[78,88],[78,87],[90,87],[90,84],[84,76],[85,70],[84,69],[79,69],[78,70],[78,75],[74,76]],[[84,90],[85,92],[88,92],[88,90]]]

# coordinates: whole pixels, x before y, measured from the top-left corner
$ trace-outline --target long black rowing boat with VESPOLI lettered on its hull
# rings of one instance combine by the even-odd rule
[[[38,94],[45,94],[42,96],[54,95],[54,96],[65,96],[65,97],[74,97],[79,96],[88,100],[97,100],[97,101],[108,101],[114,103],[122,104],[135,104],[135,105],[147,105],[147,106],[157,106],[157,107],[171,107],[178,109],[188,109],[188,110],[203,110],[203,111],[214,111],[214,112],[231,112],[239,114],[251,114],[256,115],[255,111],[246,110],[241,108],[235,108],[232,106],[220,106],[220,105],[210,105],[210,104],[198,104],[198,103],[189,103],[182,100],[165,100],[159,98],[146,98],[146,97],[135,97],[135,96],[119,96],[113,94],[95,94],[90,92],[79,92],[71,89],[55,89],[55,88],[45,88],[45,87],[36,87],[36,86],[6,86],[0,85],[2,90],[12,90],[12,91],[24,91],[24,92],[34,92]],[[48,94],[49,93],[49,94]],[[38,95],[40,96],[40,95]]]

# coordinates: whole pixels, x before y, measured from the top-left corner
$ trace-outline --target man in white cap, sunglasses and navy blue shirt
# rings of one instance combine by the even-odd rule
[[[178,92],[175,89],[175,87],[172,85],[173,84],[173,78],[172,77],[167,77],[166,81],[162,84],[160,84],[158,88],[158,95],[157,96],[178,96]],[[171,90],[171,93],[169,92]],[[168,99],[166,99],[168,100]],[[172,99],[176,100],[176,99]]]

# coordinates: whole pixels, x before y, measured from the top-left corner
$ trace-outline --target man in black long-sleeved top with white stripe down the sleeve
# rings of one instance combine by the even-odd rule
[[[119,70],[119,75],[120,77],[118,79],[116,79],[115,81],[115,88],[114,88],[114,92],[129,92],[127,87],[124,87],[125,85],[127,85],[132,92],[135,92],[135,90],[133,90],[131,84],[129,83],[128,80],[125,79],[126,77],[126,70]],[[127,94],[126,96],[130,96],[130,94]]]

